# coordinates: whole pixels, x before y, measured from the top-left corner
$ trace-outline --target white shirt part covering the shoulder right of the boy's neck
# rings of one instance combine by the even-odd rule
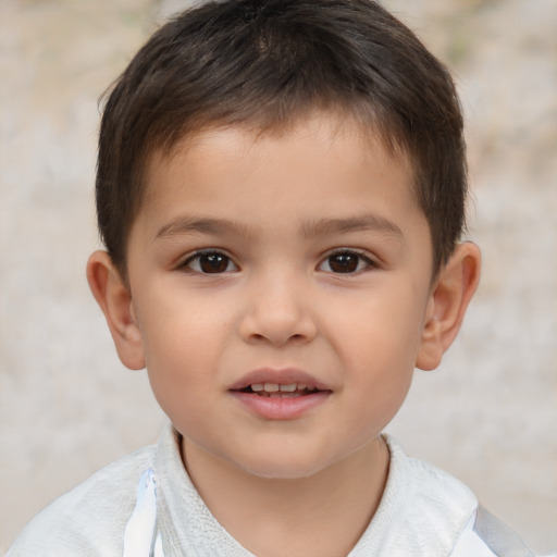
[[[433,465],[408,457],[393,437],[385,436],[385,441],[391,453],[388,479],[366,532],[368,540],[377,544],[372,555],[533,555],[509,528],[479,505],[467,485]]]

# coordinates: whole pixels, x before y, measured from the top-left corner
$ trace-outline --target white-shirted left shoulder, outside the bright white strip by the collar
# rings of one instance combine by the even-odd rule
[[[92,557],[122,553],[137,483],[154,458],[145,447],[102,468],[39,512],[7,557]]]

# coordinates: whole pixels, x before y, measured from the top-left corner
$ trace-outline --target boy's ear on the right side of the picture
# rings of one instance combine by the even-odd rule
[[[433,285],[416,367],[434,370],[457,336],[480,281],[480,249],[459,244]]]

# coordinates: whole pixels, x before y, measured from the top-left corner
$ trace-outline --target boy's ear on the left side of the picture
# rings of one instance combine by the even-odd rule
[[[90,256],[87,262],[87,281],[104,313],[122,363],[131,370],[145,368],[143,341],[129,288],[106,251],[95,251]]]

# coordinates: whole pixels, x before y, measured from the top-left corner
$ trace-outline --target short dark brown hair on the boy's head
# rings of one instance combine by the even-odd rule
[[[108,97],[97,215],[120,271],[154,151],[210,125],[265,131],[315,108],[356,117],[409,157],[438,270],[465,227],[468,189],[462,115],[445,66],[371,0],[225,0],[163,25]]]

